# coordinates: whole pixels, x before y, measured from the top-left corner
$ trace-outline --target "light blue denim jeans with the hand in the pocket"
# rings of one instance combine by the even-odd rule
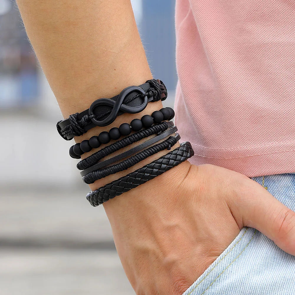
[[[253,177],[295,211],[295,173]],[[294,241],[295,243],[295,241]],[[295,256],[244,227],[183,295],[294,295]]]

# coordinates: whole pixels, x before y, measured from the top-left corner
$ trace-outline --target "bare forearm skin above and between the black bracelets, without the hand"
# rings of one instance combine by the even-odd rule
[[[27,34],[64,117],[89,108],[99,97],[112,97],[127,86],[140,85],[152,78],[130,0],[92,0],[87,4],[77,0],[17,2]],[[150,103],[140,114],[119,116],[108,129],[161,107],[160,101]],[[75,140],[81,142],[103,130],[105,128],[95,127]],[[91,189],[167,152],[162,151],[126,171],[96,181]],[[137,188],[138,194],[145,195],[145,192],[144,188]]]

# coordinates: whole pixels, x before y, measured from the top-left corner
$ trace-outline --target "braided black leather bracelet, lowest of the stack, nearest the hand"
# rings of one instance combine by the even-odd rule
[[[170,170],[193,155],[194,150],[192,149],[190,142],[183,142],[179,148],[176,148],[158,160],[112,181],[95,191],[89,192],[86,195],[86,199],[92,206],[96,207],[115,196],[119,196],[124,192],[163,174],[165,171]]]

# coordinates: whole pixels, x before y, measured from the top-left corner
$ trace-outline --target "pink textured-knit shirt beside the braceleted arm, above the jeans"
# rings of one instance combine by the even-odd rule
[[[191,163],[295,172],[293,0],[176,0],[176,64]]]

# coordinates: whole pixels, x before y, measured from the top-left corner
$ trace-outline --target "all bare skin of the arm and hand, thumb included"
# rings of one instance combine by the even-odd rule
[[[152,78],[129,0],[17,3],[65,118],[98,98]],[[107,128],[161,107],[161,102],[150,103],[142,113],[123,114]],[[95,127],[75,140],[102,130]],[[167,152],[90,187],[97,189]],[[182,294],[243,226],[257,228],[295,254],[294,212],[255,181],[222,167],[186,161],[106,202],[104,208],[124,270],[140,295]]]

